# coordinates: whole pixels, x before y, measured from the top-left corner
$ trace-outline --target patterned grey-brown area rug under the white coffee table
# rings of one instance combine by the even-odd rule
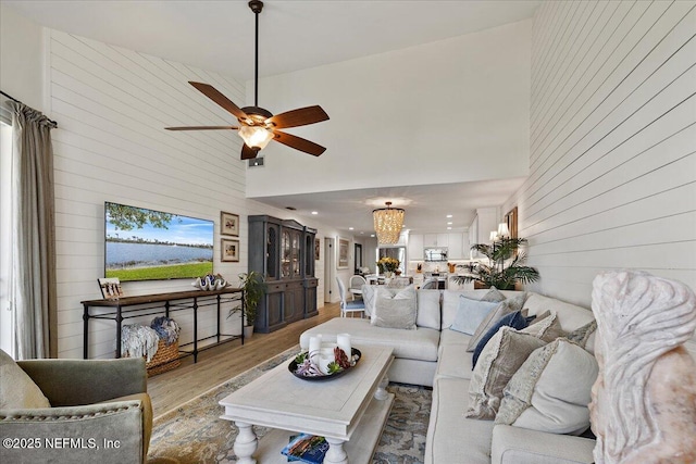
[[[235,463],[232,447],[237,429],[220,418],[223,407],[219,401],[264,372],[289,361],[298,351],[299,347],[291,348],[157,417],[148,464]],[[389,384],[387,390],[396,398],[373,462],[422,463],[432,390],[401,384]],[[254,429],[259,437],[266,432],[264,427]]]

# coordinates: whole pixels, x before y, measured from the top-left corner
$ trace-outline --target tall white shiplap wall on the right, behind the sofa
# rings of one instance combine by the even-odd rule
[[[696,289],[696,2],[543,2],[534,21],[531,288],[589,305],[596,274]]]

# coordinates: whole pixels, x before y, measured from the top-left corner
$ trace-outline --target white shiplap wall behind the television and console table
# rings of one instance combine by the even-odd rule
[[[59,356],[82,358],[79,302],[101,298],[97,278],[103,276],[104,201],[213,220],[215,272],[233,283],[247,269],[247,215],[296,217],[245,198],[246,167],[239,161],[236,134],[163,129],[231,123],[233,116],[188,80],[209,83],[238,104],[245,102],[244,85],[57,30],[50,30],[49,37],[50,114],[60,123],[52,133]],[[239,263],[220,262],[221,211],[240,215]],[[320,236],[323,234],[338,233],[323,229]],[[322,263],[316,264],[321,276]],[[127,294],[187,290],[190,281],[126,283],[124,290]],[[138,322],[147,323],[151,317]],[[175,317],[183,325],[182,341],[190,341],[191,312]],[[200,311],[202,336],[214,333],[214,321],[212,309]],[[224,333],[239,331],[238,321],[224,321]],[[90,358],[113,355],[114,327],[113,322],[90,322]]]

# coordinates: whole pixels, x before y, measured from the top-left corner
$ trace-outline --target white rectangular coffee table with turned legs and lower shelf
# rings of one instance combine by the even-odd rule
[[[394,356],[387,347],[355,348],[362,358],[338,378],[299,379],[287,361],[220,401],[225,407],[221,418],[239,429],[234,444],[237,463],[256,463],[257,451],[262,463],[287,463],[281,450],[297,432],[326,438],[325,463],[346,464],[348,455],[351,464],[369,463],[394,402],[394,393],[385,390]],[[259,440],[252,425],[273,430]]]

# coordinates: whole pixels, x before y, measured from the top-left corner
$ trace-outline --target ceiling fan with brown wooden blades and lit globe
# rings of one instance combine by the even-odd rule
[[[307,126],[328,120],[328,114],[319,105],[299,108],[285,113],[273,115],[270,111],[259,106],[259,14],[263,9],[263,2],[251,0],[249,8],[256,15],[256,51],[254,51],[254,78],[253,78],[253,106],[239,108],[227,97],[217,91],[213,86],[202,83],[189,81],[206,97],[227,110],[239,122],[237,126],[198,126],[198,127],[165,127],[167,130],[238,130],[245,143],[241,147],[241,159],[257,158],[260,150],[265,148],[271,140],[278,141],[290,148],[319,156],[326,149],[301,137],[281,131],[288,127]]]

